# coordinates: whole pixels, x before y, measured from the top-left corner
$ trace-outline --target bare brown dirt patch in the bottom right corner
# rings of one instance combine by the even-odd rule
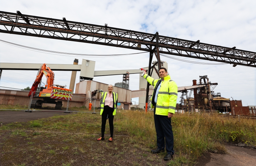
[[[255,166],[256,149],[226,145],[228,154],[207,153],[201,156],[196,166]]]

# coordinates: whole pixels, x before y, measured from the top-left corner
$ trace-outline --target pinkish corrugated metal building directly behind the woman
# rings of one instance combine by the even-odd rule
[[[104,84],[97,81],[84,80],[76,84],[76,93],[86,94],[87,98],[90,98],[91,92],[96,89],[102,89],[104,92],[108,91],[108,84]],[[113,92],[118,93],[118,102],[121,105],[118,106],[118,109],[129,109],[131,105],[131,90],[119,88],[114,86]],[[96,106],[100,106],[101,94],[97,93],[96,96],[91,97],[96,100]],[[85,106],[89,105],[89,100],[86,101]]]

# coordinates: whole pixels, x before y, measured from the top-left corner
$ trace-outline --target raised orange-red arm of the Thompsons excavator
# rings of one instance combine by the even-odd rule
[[[33,96],[35,95],[35,91],[38,87],[38,84],[42,80],[43,75],[46,76],[47,84],[45,85],[46,88],[49,88],[54,84],[54,73],[52,70],[44,63],[39,71],[39,74],[36,76],[36,79],[31,87],[31,91],[29,92],[28,96],[30,97],[32,92]]]

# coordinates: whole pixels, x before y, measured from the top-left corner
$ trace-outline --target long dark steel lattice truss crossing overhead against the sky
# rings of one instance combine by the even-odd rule
[[[217,45],[124,30],[65,18],[52,19],[0,11],[0,32],[41,38],[108,45],[142,51],[159,46],[159,53],[256,67],[256,53]],[[158,37],[157,37],[158,36]],[[141,46],[139,46],[141,45]],[[158,49],[157,49],[158,50]],[[157,51],[155,51],[157,52]]]

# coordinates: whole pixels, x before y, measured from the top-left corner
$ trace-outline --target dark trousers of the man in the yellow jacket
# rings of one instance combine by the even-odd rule
[[[156,108],[156,105],[155,105]],[[168,154],[173,155],[173,132],[171,127],[171,118],[164,115],[156,115],[154,108],[154,120],[155,120],[155,131],[157,146],[160,150],[164,150],[166,145],[166,151]],[[165,144],[164,144],[165,138]]]

